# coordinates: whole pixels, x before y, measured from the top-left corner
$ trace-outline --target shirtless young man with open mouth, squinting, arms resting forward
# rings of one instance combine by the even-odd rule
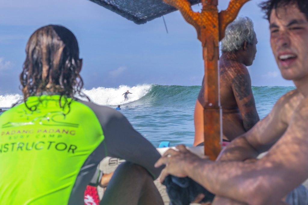
[[[268,0],[260,6],[270,23],[270,44],[282,77],[296,89],[227,145],[216,162],[180,145],[155,165],[167,165],[161,181],[169,174],[188,176],[216,194],[213,205],[308,204],[301,185],[308,178],[308,1]]]

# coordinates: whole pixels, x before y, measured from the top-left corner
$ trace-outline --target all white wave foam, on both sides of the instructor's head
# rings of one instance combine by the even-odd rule
[[[91,90],[83,89],[83,93],[96,104],[111,106],[137,101],[145,96],[151,88],[152,85],[150,84],[136,85],[133,87],[120,85],[118,88],[98,87],[92,88]],[[124,95],[122,94],[128,90],[132,94],[128,94],[128,100],[124,101]],[[22,95],[19,94],[0,95],[0,108],[10,108],[20,99],[22,99]]]

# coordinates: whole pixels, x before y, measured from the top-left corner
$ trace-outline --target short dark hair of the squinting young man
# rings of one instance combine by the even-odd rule
[[[270,14],[273,9],[290,4],[297,4],[298,9],[305,14],[308,20],[308,1],[307,0],[268,0],[259,4],[261,10],[265,13],[264,18],[270,21]]]

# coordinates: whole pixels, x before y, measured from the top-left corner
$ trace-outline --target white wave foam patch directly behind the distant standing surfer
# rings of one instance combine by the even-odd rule
[[[127,104],[133,101],[139,100],[144,97],[152,88],[152,85],[143,84],[129,87],[127,85],[120,85],[118,88],[92,88],[91,90],[83,90],[92,102],[100,105],[118,105]],[[128,94],[128,100],[124,101],[124,95],[126,91],[132,94]]]

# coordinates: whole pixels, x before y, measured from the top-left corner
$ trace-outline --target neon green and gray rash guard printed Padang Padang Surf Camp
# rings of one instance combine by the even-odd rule
[[[154,178],[159,175],[160,169],[153,165],[160,155],[122,114],[67,100],[70,105],[61,100],[61,108],[57,95],[29,97],[26,104],[0,116],[1,204],[84,204],[86,185],[105,156],[140,164]],[[30,111],[26,105],[37,108]],[[118,125],[126,131],[117,131]],[[141,152],[150,155],[150,162],[142,159],[140,149],[135,150],[140,144],[129,148],[127,143],[137,141],[146,147]]]

